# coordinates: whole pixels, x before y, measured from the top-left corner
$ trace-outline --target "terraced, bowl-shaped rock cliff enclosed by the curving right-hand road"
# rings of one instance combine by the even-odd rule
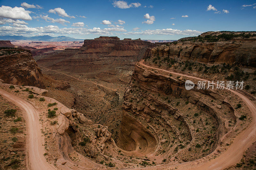
[[[123,119],[116,140],[122,152],[186,162],[214,151],[220,138],[234,126],[234,109],[220,94],[188,91],[184,84],[182,78],[136,64],[124,94]],[[221,110],[217,106],[220,103]]]

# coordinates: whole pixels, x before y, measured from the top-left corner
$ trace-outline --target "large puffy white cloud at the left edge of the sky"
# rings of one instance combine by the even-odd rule
[[[15,6],[14,8],[12,8],[10,6],[4,5],[0,7],[1,18],[32,20],[32,18],[29,15],[30,13],[31,11],[26,11],[22,7]]]

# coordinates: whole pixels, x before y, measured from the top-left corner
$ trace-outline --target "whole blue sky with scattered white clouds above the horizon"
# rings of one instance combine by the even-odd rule
[[[176,40],[206,31],[256,31],[256,0],[0,0],[0,6],[3,35]]]

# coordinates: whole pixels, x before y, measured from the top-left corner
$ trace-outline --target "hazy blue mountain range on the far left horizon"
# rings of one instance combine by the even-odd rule
[[[18,35],[0,35],[0,40],[30,40],[30,41],[84,41],[84,39],[76,39],[66,36],[52,37],[49,35],[40,35],[33,37],[24,37]]]

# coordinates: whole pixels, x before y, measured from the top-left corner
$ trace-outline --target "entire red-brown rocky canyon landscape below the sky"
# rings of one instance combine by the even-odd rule
[[[35,154],[49,169],[250,169],[255,39],[255,32],[158,43],[100,36],[64,50],[0,41],[0,93],[19,114],[39,115],[34,131],[45,148]],[[186,90],[186,80],[195,87]],[[200,89],[208,80],[243,81],[244,89]]]

